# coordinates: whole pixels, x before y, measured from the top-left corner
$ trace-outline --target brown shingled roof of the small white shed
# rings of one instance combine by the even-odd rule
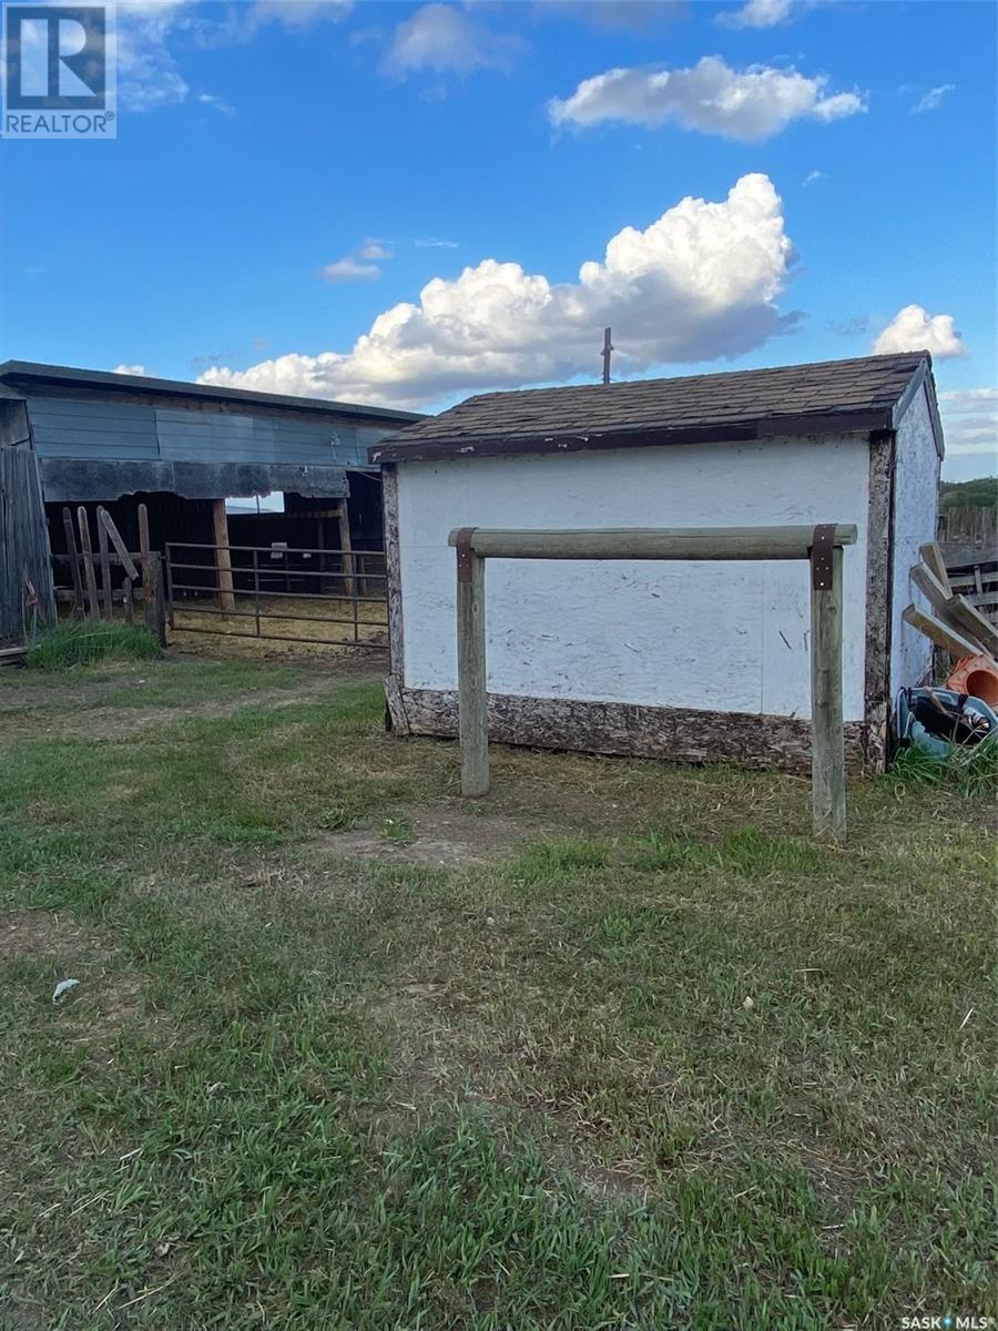
[[[371,449],[371,462],[893,430],[927,351],[671,379],[482,393]],[[937,442],[942,434],[937,425]]]

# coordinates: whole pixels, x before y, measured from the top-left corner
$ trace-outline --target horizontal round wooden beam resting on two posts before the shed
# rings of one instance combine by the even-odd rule
[[[458,528],[447,543],[454,546]],[[482,559],[808,559],[813,526],[603,527],[507,530],[474,527],[471,551]],[[856,544],[856,527],[834,528],[833,546]]]

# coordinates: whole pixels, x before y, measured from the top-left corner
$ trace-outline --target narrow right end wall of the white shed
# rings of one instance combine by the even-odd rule
[[[926,390],[922,387],[898,422],[894,473],[894,556],[892,570],[890,692],[925,683],[931,673],[929,639],[901,618],[914,602],[933,614],[910,570],[918,563],[918,547],[935,539],[939,506],[939,454],[935,447]]]

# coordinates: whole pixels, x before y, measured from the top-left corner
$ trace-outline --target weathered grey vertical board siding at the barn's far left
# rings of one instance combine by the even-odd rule
[[[25,572],[41,598],[40,614],[53,620],[56,603],[39,459],[21,445],[0,447],[0,642],[21,640]]]

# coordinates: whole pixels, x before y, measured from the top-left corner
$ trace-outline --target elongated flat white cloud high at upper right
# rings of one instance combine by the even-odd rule
[[[564,101],[548,102],[555,125],[607,121],[645,125],[675,121],[683,129],[758,142],[793,120],[828,124],[866,106],[858,93],[825,96],[828,79],[793,69],[750,65],[732,69],[720,56],[704,56],[692,69],[608,69],[585,79]]]

